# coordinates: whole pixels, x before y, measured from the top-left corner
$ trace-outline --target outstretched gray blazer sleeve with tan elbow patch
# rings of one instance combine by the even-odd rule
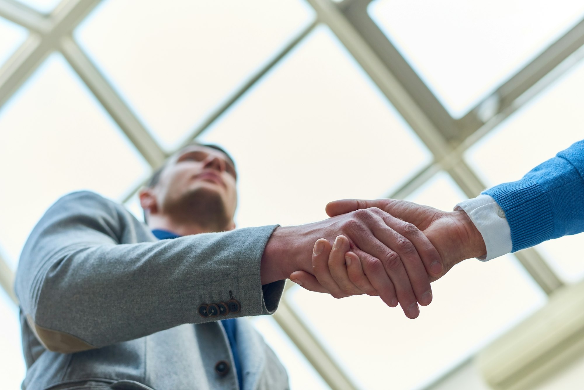
[[[284,281],[262,286],[260,260],[276,226],[141,242],[154,237],[123,207],[88,191],[72,193],[30,234],[16,294],[40,342],[62,353],[183,323],[272,314]],[[237,314],[199,314],[201,304],[231,298],[240,304]]]

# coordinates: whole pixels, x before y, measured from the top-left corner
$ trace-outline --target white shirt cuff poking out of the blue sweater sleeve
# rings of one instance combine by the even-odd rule
[[[486,262],[511,252],[511,229],[505,213],[495,199],[480,194],[474,199],[458,203],[454,210],[464,210],[485,241],[486,255],[477,259]]]

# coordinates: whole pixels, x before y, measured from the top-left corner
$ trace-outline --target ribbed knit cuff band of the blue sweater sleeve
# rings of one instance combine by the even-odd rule
[[[493,197],[505,212],[511,229],[512,252],[537,245],[552,235],[552,207],[538,183],[522,179],[499,184],[482,193]]]

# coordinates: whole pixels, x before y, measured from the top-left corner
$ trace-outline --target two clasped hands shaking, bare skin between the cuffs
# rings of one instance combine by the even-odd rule
[[[432,302],[430,282],[454,264],[486,254],[463,210],[347,199],[327,204],[326,213],[328,220],[276,228],[263,253],[262,284],[290,277],[335,298],[378,295],[416,318],[418,304]]]

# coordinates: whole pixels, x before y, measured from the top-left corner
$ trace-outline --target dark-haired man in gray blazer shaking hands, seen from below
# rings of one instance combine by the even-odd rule
[[[319,238],[345,235],[376,294],[410,318],[430,303],[441,260],[413,225],[374,208],[235,229],[236,180],[222,149],[192,144],[141,191],[148,226],[88,191],[51,206],[16,274],[22,389],[287,388],[273,351],[239,317],[272,314],[288,275],[311,272]]]

